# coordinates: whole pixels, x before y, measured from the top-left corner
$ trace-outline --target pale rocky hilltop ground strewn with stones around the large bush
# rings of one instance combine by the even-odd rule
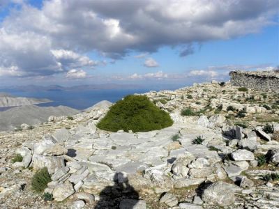
[[[1,208],[279,208],[278,95],[218,82],[145,95],[172,127],[98,130],[100,102],[0,132]],[[43,167],[52,201],[31,189]]]

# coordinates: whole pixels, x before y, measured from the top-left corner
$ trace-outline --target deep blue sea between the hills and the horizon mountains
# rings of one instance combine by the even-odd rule
[[[102,100],[116,102],[125,95],[133,93],[145,93],[148,91],[159,91],[160,89],[96,89],[91,91],[8,91],[15,96],[28,97],[28,98],[46,98],[53,102],[38,104],[42,107],[64,105],[75,109],[86,109],[93,106]],[[0,109],[3,111],[3,109]]]

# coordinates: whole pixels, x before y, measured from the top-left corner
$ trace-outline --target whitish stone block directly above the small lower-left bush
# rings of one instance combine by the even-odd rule
[[[54,173],[56,169],[65,167],[64,158],[61,156],[44,156],[44,155],[33,155],[33,169],[43,169],[47,167],[50,174]]]

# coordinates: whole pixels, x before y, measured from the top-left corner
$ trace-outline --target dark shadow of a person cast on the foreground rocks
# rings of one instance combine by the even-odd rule
[[[100,192],[100,200],[95,209],[133,209],[139,201],[139,193],[129,184],[123,173],[114,175],[114,185]]]

